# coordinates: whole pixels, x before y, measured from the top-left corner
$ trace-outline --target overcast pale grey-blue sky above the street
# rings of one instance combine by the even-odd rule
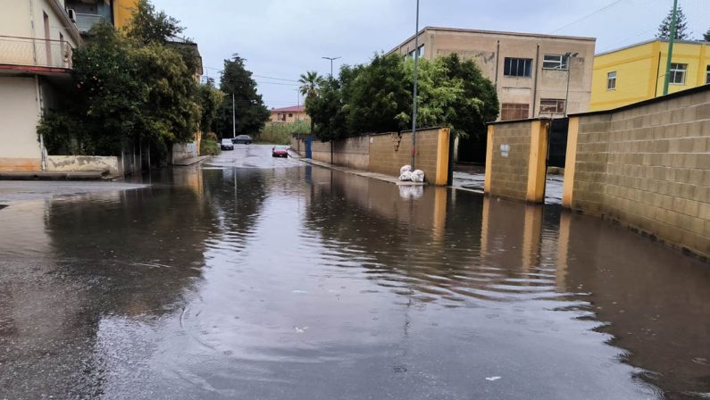
[[[238,53],[255,75],[298,79],[334,64],[367,63],[414,33],[415,0],[153,0],[179,19],[218,77]],[[680,0],[693,37],[710,28],[710,0]],[[597,53],[656,34],[672,0],[421,0],[420,27],[509,30],[597,37]],[[297,86],[255,77],[271,107],[297,103]]]

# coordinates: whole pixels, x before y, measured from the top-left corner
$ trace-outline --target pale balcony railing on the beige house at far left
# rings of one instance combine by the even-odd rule
[[[63,40],[0,36],[0,64],[70,69],[71,52]]]

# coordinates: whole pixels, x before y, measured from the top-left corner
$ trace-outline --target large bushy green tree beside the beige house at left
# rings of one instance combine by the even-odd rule
[[[141,4],[133,21],[154,18],[143,15],[153,12],[150,4]],[[71,73],[74,102],[49,113],[38,129],[52,153],[114,155],[128,143],[147,142],[153,154],[165,155],[172,143],[192,140],[198,129],[194,73],[163,41],[97,24],[86,45],[74,51]]]

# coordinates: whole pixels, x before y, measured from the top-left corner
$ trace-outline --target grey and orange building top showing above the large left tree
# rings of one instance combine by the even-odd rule
[[[133,10],[138,6],[138,0],[63,0],[61,3],[82,34],[99,21],[123,29],[129,24]]]

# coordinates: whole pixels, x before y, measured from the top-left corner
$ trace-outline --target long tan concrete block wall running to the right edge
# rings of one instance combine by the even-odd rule
[[[579,132],[565,169],[565,181],[572,179],[565,206],[710,256],[708,87],[572,116],[570,123]]]

